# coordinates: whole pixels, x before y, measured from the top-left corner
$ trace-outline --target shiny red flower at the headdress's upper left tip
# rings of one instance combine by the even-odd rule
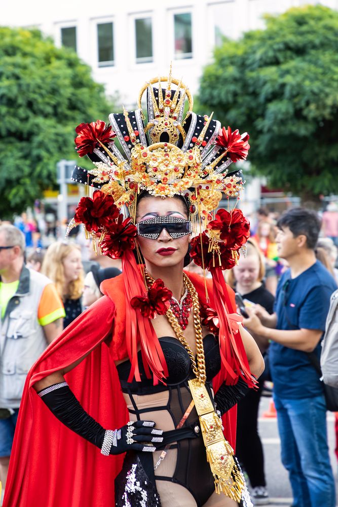
[[[99,146],[98,140],[102,144],[107,144],[116,136],[116,132],[111,130],[111,126],[106,126],[105,122],[101,120],[92,123],[81,123],[75,131],[78,135],[74,141],[80,157],[93,153],[94,148]]]

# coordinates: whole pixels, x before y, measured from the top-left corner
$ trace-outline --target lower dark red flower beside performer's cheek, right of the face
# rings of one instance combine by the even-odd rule
[[[202,238],[202,243],[201,243]],[[209,249],[209,237],[205,232],[202,232],[201,235],[195,236],[191,242],[191,251],[190,257],[193,259],[195,264],[198,266],[204,267],[209,271],[212,268],[221,268],[221,269],[231,269],[236,264],[236,257],[234,255],[233,250],[228,248],[225,243],[218,243],[219,246],[219,257],[218,254],[212,254],[212,251],[208,251]],[[203,251],[203,262],[202,262],[202,251]],[[220,264],[219,265],[219,259]]]

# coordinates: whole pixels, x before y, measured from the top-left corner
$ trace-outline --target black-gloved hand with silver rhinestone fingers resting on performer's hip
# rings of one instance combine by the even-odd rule
[[[163,442],[162,429],[154,428],[154,421],[128,422],[111,434],[110,454],[122,454],[127,451],[156,451],[156,444]]]

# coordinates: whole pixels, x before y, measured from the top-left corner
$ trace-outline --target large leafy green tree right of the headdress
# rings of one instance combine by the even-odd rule
[[[338,193],[338,12],[307,6],[265,19],[266,29],[215,49],[199,101],[249,132],[254,173],[315,201]]]

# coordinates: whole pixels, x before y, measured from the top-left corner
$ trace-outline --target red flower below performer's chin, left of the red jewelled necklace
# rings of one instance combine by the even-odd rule
[[[133,308],[139,308],[143,317],[154,318],[157,315],[165,315],[170,306],[169,300],[172,292],[164,286],[163,280],[158,278],[148,289],[147,295],[135,296],[130,304]]]

